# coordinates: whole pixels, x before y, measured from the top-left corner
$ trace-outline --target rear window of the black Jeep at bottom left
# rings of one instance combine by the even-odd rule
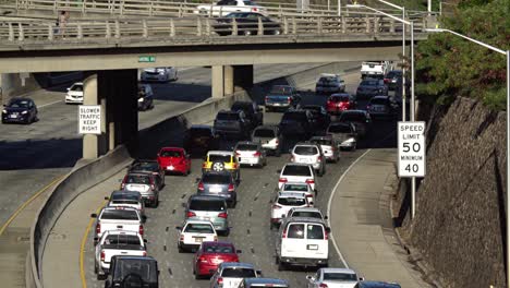
[[[151,260],[122,259],[118,260],[114,272],[114,281],[122,281],[130,274],[139,276],[146,283],[155,283],[157,279],[157,265]]]

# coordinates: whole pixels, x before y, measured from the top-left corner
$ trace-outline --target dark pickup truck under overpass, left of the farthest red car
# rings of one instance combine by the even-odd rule
[[[298,108],[301,103],[301,96],[289,85],[274,85],[265,98],[266,111],[287,110]]]

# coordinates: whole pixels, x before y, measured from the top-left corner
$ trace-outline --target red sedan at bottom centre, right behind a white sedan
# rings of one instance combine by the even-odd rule
[[[238,253],[241,250],[235,250],[230,242],[203,242],[193,261],[195,278],[211,276],[223,262],[239,262]]]

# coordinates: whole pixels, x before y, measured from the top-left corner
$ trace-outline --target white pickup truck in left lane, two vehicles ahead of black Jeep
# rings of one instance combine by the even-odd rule
[[[144,235],[145,216],[141,216],[134,208],[105,207],[99,215],[92,214],[90,217],[97,218],[94,244],[97,244],[105,231],[133,231]]]

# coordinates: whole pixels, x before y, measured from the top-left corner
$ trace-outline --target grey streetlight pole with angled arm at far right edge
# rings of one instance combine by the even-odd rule
[[[509,178],[509,171],[510,171],[510,50],[501,50],[499,48],[496,48],[494,46],[490,46],[488,44],[485,44],[483,41],[470,38],[465,35],[462,35],[460,33],[457,33],[454,31],[450,29],[442,29],[442,28],[436,28],[436,29],[426,29],[427,32],[446,32],[453,34],[456,36],[462,37],[466,40],[470,40],[472,43],[476,43],[477,45],[481,45],[485,48],[488,48],[495,52],[501,53],[507,56],[507,213],[506,213],[506,221],[507,221],[507,287],[510,287],[510,178]]]

